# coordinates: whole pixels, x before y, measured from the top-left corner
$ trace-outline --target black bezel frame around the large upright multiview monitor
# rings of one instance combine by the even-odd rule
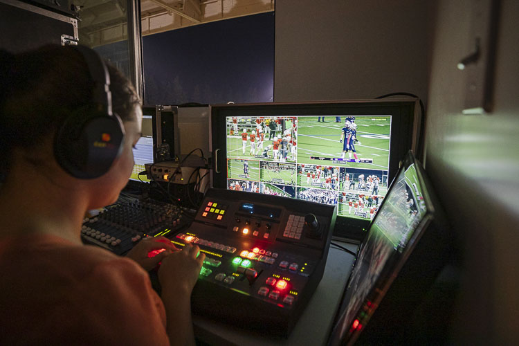
[[[336,100],[318,102],[273,102],[257,104],[215,104],[210,106],[210,150],[212,186],[227,188],[226,118],[233,116],[392,116],[388,183],[394,179],[400,159],[419,142],[420,118],[416,98],[377,100]],[[337,215],[334,238],[360,242],[369,220]]]

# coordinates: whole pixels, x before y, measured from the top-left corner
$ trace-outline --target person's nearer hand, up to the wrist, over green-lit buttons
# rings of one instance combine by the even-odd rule
[[[182,251],[170,253],[162,260],[158,269],[158,282],[163,295],[191,295],[206,255],[197,245],[186,244]]]

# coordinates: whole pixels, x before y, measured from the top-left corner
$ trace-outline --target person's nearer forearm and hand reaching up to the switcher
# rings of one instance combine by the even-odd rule
[[[182,251],[164,257],[158,270],[166,331],[172,345],[194,345],[191,292],[206,258],[199,250],[197,245],[188,244]]]

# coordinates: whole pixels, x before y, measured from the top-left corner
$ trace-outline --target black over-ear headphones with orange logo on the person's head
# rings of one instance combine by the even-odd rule
[[[73,111],[54,138],[57,163],[71,176],[94,179],[107,173],[122,152],[125,128],[111,109],[110,75],[98,53],[77,46],[94,82],[91,103]]]

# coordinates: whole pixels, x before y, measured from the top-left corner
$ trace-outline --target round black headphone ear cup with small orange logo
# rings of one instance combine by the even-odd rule
[[[109,171],[122,152],[124,136],[122,121],[116,114],[79,111],[56,132],[56,161],[75,178],[98,178]]]

